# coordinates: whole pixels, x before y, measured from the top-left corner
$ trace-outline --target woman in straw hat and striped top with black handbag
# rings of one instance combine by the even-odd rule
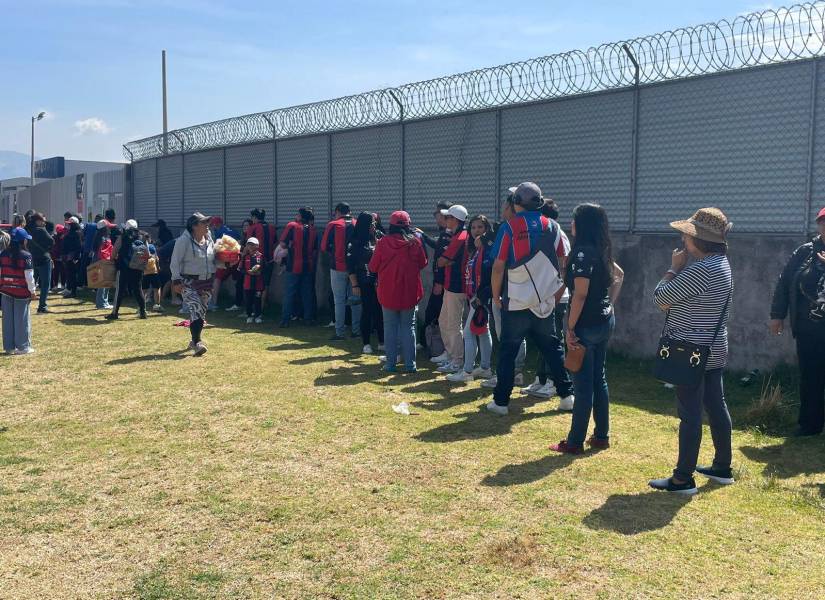
[[[733,280],[727,259],[731,223],[718,208],[699,209],[671,227],[682,233],[670,269],[653,293],[667,311],[659,345],[657,377],[676,384],[679,457],[671,477],[653,479],[656,490],[692,496],[694,472],[728,485],[731,471],[731,419],[725,403],[722,370],[728,358],[727,321]],[[687,266],[688,256],[694,262]],[[708,415],[716,454],[710,466],[697,466],[702,443],[702,407]]]

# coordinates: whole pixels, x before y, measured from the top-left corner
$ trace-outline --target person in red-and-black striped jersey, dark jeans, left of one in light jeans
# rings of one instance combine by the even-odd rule
[[[315,321],[315,266],[318,258],[318,232],[315,213],[308,206],[298,209],[295,220],[281,233],[281,248],[287,251],[286,281],[281,314],[281,327],[289,327],[295,300],[300,294],[304,323]]]

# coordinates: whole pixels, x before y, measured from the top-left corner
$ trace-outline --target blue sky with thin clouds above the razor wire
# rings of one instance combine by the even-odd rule
[[[0,149],[121,160],[169,126],[333,98],[767,8],[754,0],[0,0]],[[777,5],[779,6],[779,5]]]

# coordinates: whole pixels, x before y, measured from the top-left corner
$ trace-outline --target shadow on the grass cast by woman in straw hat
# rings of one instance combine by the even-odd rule
[[[716,487],[718,486],[705,485],[700,493],[712,491]],[[688,502],[690,496],[655,490],[641,494],[614,494],[587,515],[582,523],[597,531],[636,535],[667,527]]]

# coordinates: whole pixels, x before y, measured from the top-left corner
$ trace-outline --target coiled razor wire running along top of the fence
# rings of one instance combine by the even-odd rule
[[[169,132],[167,153],[549,100],[823,54],[825,1],[810,2],[583,51],[193,125]],[[163,134],[124,145],[129,160],[163,155]]]

